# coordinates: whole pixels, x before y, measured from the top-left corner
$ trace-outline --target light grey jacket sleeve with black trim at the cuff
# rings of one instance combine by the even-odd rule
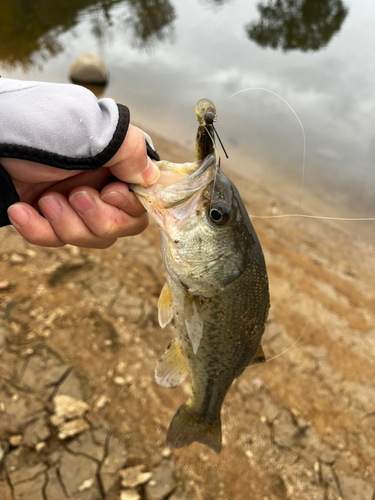
[[[123,143],[129,120],[126,106],[97,100],[79,85],[0,78],[0,158],[96,170]],[[148,142],[147,153],[159,159]],[[6,210],[16,201],[12,181],[0,166],[0,226],[9,224]]]

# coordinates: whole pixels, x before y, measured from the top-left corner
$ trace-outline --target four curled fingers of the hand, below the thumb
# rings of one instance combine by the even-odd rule
[[[8,215],[20,235],[34,245],[108,248],[119,237],[142,232],[148,217],[127,186],[118,182],[106,188],[104,194],[112,204],[103,201],[95,189],[85,187],[72,191],[69,201],[61,193],[43,195],[39,209],[44,217],[26,203],[12,205]],[[126,206],[130,214],[116,204]]]

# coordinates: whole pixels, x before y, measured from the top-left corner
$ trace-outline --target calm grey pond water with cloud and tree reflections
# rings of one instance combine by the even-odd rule
[[[230,157],[224,168],[282,186],[310,213],[374,217],[375,6],[274,4],[261,12],[246,0],[3,1],[1,75],[67,82],[79,54],[98,52],[110,71],[102,95],[126,103],[132,121],[193,148],[193,107],[208,97]],[[279,94],[302,121],[303,191],[298,121],[271,93],[228,100],[251,87]],[[374,228],[354,229],[374,240]]]

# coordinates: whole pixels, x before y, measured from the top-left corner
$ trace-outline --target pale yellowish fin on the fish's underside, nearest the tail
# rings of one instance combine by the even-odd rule
[[[180,344],[174,339],[156,365],[155,380],[159,385],[173,389],[182,384],[188,374]]]

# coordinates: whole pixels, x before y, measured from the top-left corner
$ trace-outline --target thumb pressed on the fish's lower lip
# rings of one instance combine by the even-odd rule
[[[118,179],[141,186],[154,184],[160,176],[159,169],[147,156],[143,132],[134,125],[129,125],[124,142],[105,167]]]

